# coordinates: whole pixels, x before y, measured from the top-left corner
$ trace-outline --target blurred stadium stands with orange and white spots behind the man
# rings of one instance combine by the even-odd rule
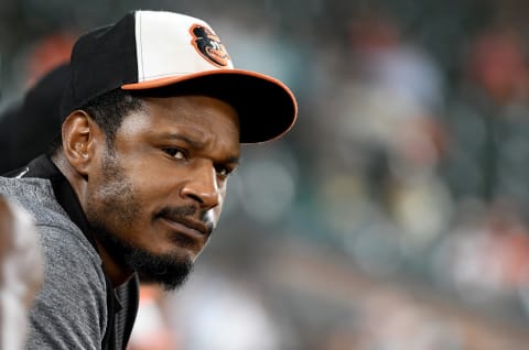
[[[132,9],[205,19],[300,113],[244,147],[195,274],[144,287],[130,350],[527,349],[529,3],[2,0],[0,107]]]

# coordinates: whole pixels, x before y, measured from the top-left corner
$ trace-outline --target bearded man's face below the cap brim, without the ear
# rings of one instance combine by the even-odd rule
[[[216,227],[239,158],[239,124],[227,103],[201,96],[145,98],[102,142],[84,209],[118,265],[179,286]]]

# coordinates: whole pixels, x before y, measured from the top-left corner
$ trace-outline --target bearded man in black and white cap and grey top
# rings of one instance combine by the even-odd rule
[[[206,22],[171,12],[83,35],[69,70],[62,144],[0,178],[34,215],[45,256],[28,348],[125,349],[138,276],[185,281],[240,143],[281,136],[298,107],[277,79],[235,69]]]

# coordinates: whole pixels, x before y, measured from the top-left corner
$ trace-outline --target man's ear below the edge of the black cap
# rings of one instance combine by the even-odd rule
[[[87,112],[76,110],[63,122],[62,136],[66,160],[80,175],[87,176],[98,147],[105,144],[101,130]]]

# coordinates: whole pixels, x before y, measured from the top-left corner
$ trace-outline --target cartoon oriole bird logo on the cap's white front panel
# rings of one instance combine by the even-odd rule
[[[190,32],[193,36],[193,46],[204,58],[220,68],[228,65],[229,55],[217,34],[199,24],[194,24]]]

